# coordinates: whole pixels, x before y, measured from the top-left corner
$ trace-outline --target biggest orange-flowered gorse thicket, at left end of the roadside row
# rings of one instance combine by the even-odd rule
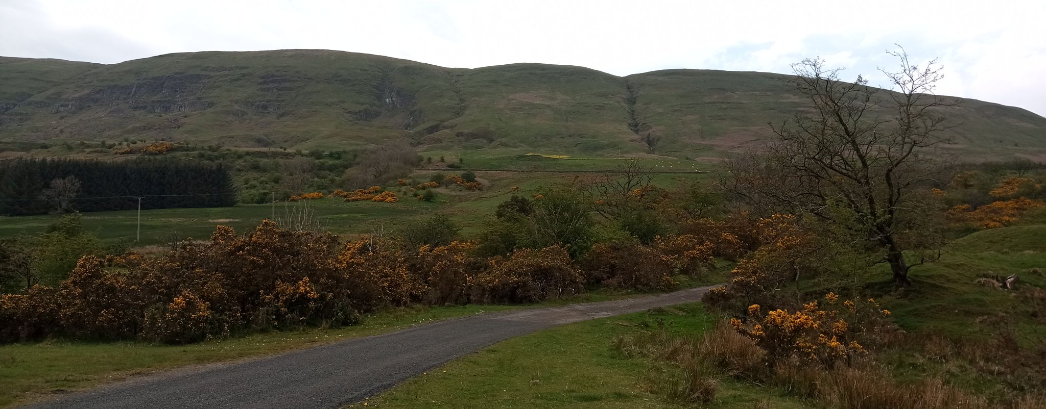
[[[56,289],[0,296],[0,334],[6,341],[68,335],[183,343],[348,324],[361,311],[420,299],[419,279],[402,258],[362,247],[265,221],[246,235],[220,226],[209,241],[183,242],[158,258],[85,257]]]

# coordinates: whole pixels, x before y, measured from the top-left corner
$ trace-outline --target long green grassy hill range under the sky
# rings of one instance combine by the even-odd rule
[[[718,157],[801,107],[788,76],[665,70],[618,77],[568,66],[451,69],[327,50],[194,52],[114,65],[0,58],[0,141],[167,139],[226,147]],[[1046,159],[1046,118],[967,100],[942,112],[949,149]]]

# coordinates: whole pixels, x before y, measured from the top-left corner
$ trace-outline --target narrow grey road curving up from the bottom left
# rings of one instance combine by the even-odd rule
[[[451,319],[263,359],[139,377],[26,408],[337,408],[507,338],[697,302],[708,288]]]

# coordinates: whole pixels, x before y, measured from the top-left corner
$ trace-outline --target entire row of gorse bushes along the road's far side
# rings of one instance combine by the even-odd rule
[[[45,336],[195,342],[254,331],[356,323],[362,313],[415,303],[535,303],[586,283],[666,289],[670,257],[631,243],[600,246],[591,274],[562,244],[483,258],[454,241],[446,218],[392,238],[341,242],[265,221],[219,226],[159,257],[87,256],[56,287],[0,295],[0,341]],[[705,257],[705,256],[702,256]],[[581,262],[584,264],[584,262]]]

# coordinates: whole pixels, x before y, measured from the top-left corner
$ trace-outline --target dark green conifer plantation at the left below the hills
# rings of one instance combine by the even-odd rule
[[[223,164],[140,159],[104,162],[21,159],[0,164],[0,214],[213,208],[233,206],[236,189]]]

